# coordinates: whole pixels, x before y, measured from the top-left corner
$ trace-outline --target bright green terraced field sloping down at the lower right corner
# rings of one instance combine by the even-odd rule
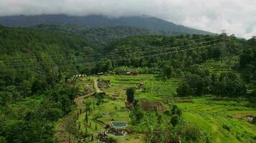
[[[175,103],[186,122],[197,124],[213,142],[255,142],[256,126],[247,122],[256,115],[256,107],[246,99],[193,99],[193,103]]]

